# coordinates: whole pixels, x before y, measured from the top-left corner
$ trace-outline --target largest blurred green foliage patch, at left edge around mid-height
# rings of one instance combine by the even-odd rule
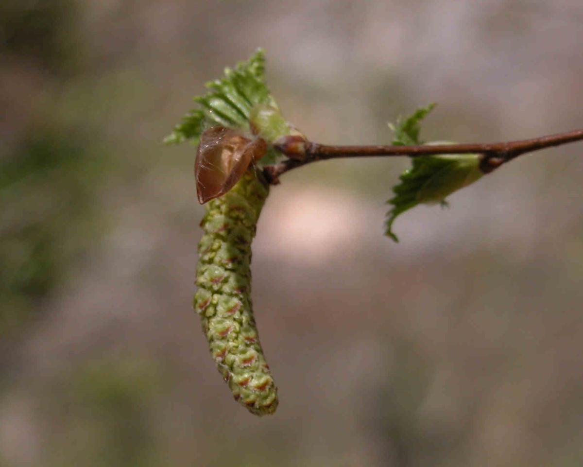
[[[97,231],[104,159],[71,129],[34,129],[0,160],[0,333],[34,317]]]

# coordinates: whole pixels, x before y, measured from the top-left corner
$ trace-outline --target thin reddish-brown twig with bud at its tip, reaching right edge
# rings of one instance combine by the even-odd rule
[[[288,159],[273,166],[265,167],[264,173],[271,184],[278,184],[279,176],[283,173],[318,160],[339,159],[341,157],[419,157],[438,154],[476,153],[482,155],[480,163],[482,171],[490,173],[495,168],[525,153],[581,140],[583,140],[583,129],[520,141],[420,146],[328,146],[308,141],[300,142],[297,136],[285,136],[276,142],[274,146]]]

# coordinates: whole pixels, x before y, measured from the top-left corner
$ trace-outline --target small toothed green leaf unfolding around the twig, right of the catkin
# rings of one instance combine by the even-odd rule
[[[420,121],[434,106],[435,104],[430,104],[419,108],[405,120],[398,120],[396,125],[389,125],[394,131],[393,144],[422,144],[419,139]],[[447,196],[472,184],[482,175],[480,157],[477,154],[413,157],[412,167],[401,174],[399,177],[401,182],[393,188],[395,196],[388,201],[392,208],[387,213],[385,235],[399,241],[392,231],[392,224],[397,216],[420,203],[447,205],[445,201]]]

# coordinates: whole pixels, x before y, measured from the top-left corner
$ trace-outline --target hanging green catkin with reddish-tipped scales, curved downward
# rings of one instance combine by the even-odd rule
[[[268,194],[251,167],[227,194],[207,203],[194,296],[219,373],[235,400],[259,416],[278,406],[251,304],[251,241]]]

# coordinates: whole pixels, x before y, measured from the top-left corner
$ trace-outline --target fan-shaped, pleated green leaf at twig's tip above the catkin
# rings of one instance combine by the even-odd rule
[[[272,143],[292,131],[283,119],[279,107],[265,83],[265,55],[262,49],[234,69],[226,68],[224,76],[206,83],[210,90],[194,97],[198,108],[189,111],[164,143],[177,144],[187,140],[198,143],[206,128],[222,127],[250,131],[250,125],[262,138]],[[271,164],[277,156],[270,146],[261,160]]]

